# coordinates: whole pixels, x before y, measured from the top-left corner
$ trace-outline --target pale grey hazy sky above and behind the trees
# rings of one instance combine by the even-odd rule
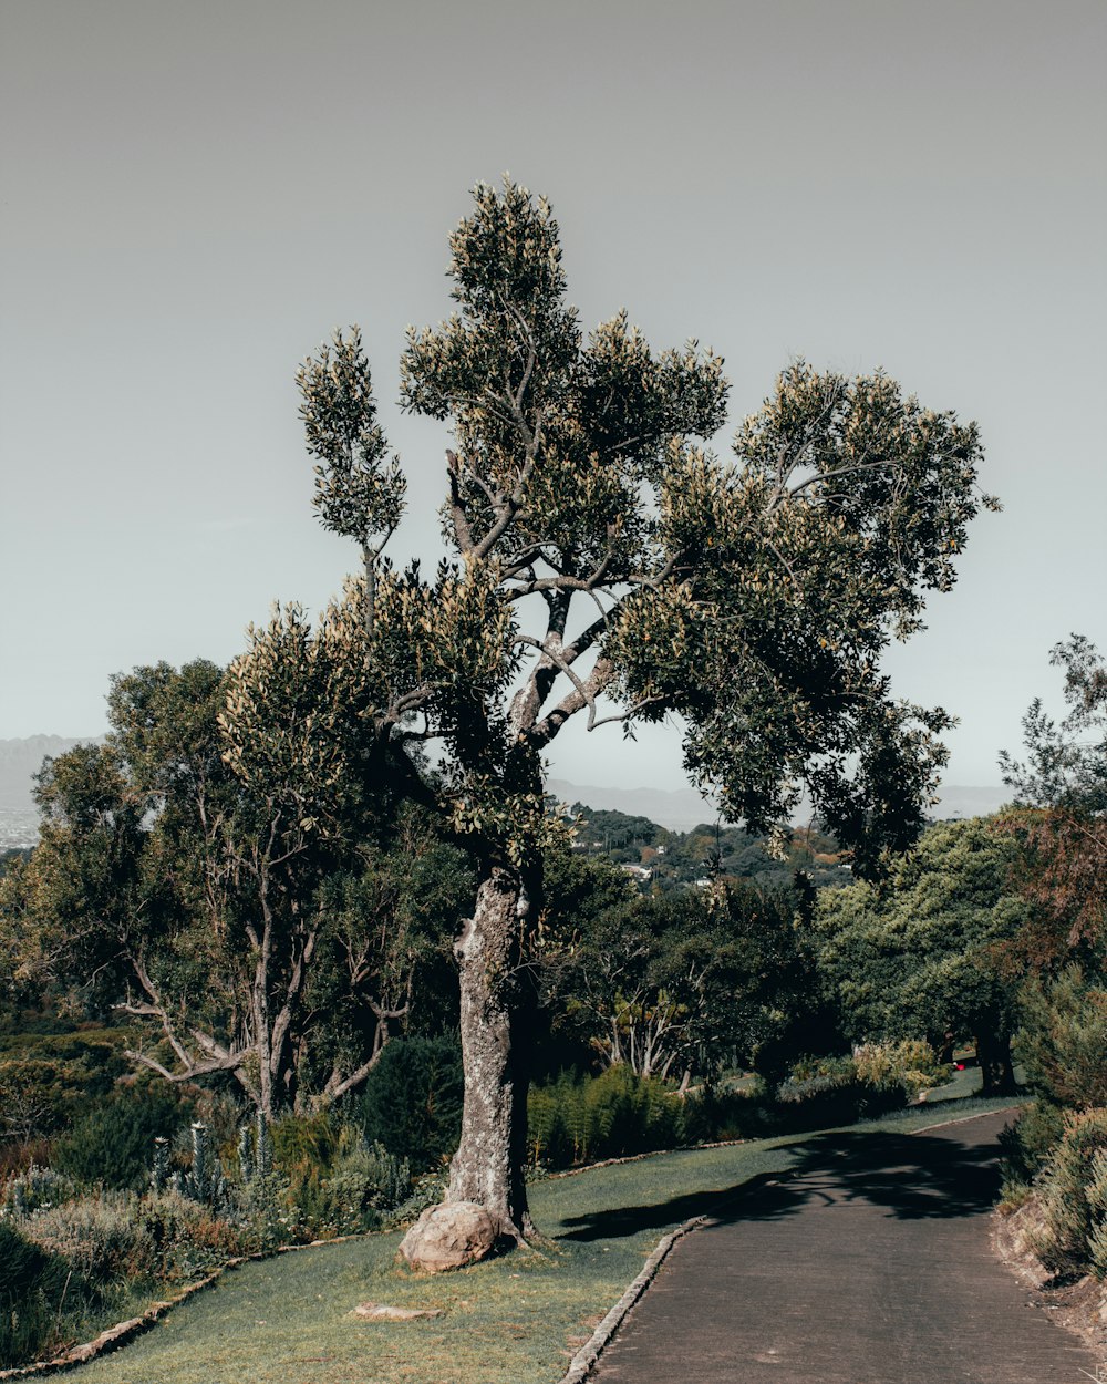
[[[336,327],[410,475],[394,555],[437,552],[399,356],[509,172],[585,328],[725,357],[720,453],[797,357],[977,419],[1005,509],[886,667],[960,717],[946,783],[998,783],[1050,646],[1107,646],[1104,66],[1101,0],[3,0],[0,739],[97,735],[113,673],[338,590],[293,382]],[[551,772],[684,783],[678,728],[606,732]]]

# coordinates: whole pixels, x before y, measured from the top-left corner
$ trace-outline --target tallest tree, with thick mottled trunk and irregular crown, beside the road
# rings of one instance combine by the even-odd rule
[[[729,817],[767,828],[805,783],[858,866],[909,841],[948,717],[893,700],[880,653],[953,584],[981,447],[881,372],[797,363],[722,462],[699,444],[724,422],[722,361],[695,342],[656,353],[625,313],[585,338],[544,199],[479,185],[450,249],[457,311],[411,331],[401,360],[403,406],[452,426],[451,558],[432,580],[381,555],[401,497],[357,332],[299,383],[324,523],[363,555],[381,536],[345,597],[368,764],[432,797],[479,861],[455,948],[466,1089],[448,1199],[520,1237],[518,960],[559,832],[542,752],[574,716],[631,732],[679,713],[686,767]],[[433,792],[411,761],[428,742]]]

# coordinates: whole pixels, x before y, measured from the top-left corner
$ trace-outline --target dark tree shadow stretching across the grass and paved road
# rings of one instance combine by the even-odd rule
[[[721,1223],[794,1215],[814,1201],[865,1199],[901,1221],[980,1215],[999,1190],[995,1133],[971,1125],[945,1135],[816,1135],[789,1146],[786,1172],[768,1172],[722,1192],[697,1192],[653,1205],[617,1207],[573,1217],[562,1240],[606,1240],[660,1230],[697,1215]]]

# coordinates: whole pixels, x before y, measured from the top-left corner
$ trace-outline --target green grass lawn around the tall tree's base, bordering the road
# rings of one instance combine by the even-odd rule
[[[854,1128],[917,1129],[1003,1102],[915,1107]],[[458,1273],[396,1264],[399,1235],[284,1254],[224,1275],[79,1384],[552,1384],[667,1229],[750,1178],[782,1172],[811,1135],[692,1149],[531,1187],[545,1239]],[[367,1300],[443,1308],[371,1323]]]

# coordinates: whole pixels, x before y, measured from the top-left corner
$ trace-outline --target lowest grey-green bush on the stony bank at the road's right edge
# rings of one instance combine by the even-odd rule
[[[1082,1273],[1103,1247],[1107,1109],[1071,1111],[1038,1182],[1042,1230],[1035,1250],[1054,1273]],[[1095,1244],[1095,1251],[1093,1251]]]

